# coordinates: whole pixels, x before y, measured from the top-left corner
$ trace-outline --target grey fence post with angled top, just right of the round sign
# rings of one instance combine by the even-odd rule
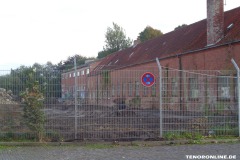
[[[159,129],[160,129],[160,138],[163,137],[163,117],[162,117],[162,67],[158,58],[156,58],[159,71]]]

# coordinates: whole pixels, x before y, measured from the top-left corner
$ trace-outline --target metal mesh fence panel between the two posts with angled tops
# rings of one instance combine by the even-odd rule
[[[163,70],[163,132],[238,135],[233,71]]]

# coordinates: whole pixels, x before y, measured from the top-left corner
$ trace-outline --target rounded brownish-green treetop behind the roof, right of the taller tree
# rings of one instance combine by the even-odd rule
[[[142,32],[139,33],[138,39],[141,42],[145,42],[161,35],[163,35],[163,33],[160,30],[147,26]]]

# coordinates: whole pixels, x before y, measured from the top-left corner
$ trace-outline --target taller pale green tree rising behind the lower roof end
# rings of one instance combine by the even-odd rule
[[[113,22],[113,28],[108,27],[105,34],[105,43],[103,51],[98,53],[97,58],[105,57],[121,49],[128,48],[132,45],[132,40],[126,36],[122,27]]]

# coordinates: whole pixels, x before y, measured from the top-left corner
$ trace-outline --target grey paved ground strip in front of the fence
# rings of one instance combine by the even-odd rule
[[[83,146],[0,147],[1,160],[184,160],[186,155],[236,155],[236,159],[240,159],[240,143],[103,149]]]

